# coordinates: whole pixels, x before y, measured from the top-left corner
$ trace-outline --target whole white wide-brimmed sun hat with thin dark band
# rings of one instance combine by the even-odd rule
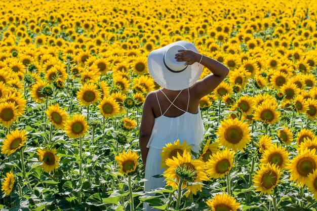
[[[175,54],[178,54],[179,50],[198,53],[193,44],[181,40],[151,51],[147,57],[150,75],[157,84],[168,90],[184,90],[191,87],[203,71],[203,66],[197,62],[185,65],[186,62],[176,61]]]

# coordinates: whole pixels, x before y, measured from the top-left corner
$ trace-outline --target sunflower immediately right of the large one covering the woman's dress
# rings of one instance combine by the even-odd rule
[[[224,178],[233,167],[234,152],[218,151],[206,162],[206,173],[210,178]]]

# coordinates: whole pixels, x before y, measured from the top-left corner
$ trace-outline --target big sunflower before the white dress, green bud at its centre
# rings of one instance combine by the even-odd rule
[[[166,165],[168,166],[167,170],[164,171],[164,177],[166,177],[165,180],[167,180],[166,185],[176,188],[180,178],[184,179],[181,185],[182,188],[188,190],[185,193],[185,196],[188,196],[189,193],[196,195],[197,190],[202,191],[201,184],[187,186],[187,182],[202,183],[203,181],[209,180],[204,171],[204,162],[192,159],[190,153],[188,153],[186,149],[181,154],[177,152],[177,157],[168,158],[166,160]],[[190,177],[188,177],[188,174],[186,173],[190,173]]]

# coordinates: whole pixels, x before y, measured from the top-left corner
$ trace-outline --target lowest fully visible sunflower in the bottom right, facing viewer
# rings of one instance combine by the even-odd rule
[[[269,195],[273,191],[276,185],[279,184],[281,178],[281,170],[275,164],[269,163],[260,165],[259,169],[253,176],[253,183],[257,191],[260,191],[259,195]]]

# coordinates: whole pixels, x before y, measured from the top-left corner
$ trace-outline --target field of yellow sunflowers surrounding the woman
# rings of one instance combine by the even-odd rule
[[[315,0],[1,1],[0,210],[317,210],[316,21]],[[144,192],[147,55],[178,40],[230,71],[200,153],[166,145]]]

